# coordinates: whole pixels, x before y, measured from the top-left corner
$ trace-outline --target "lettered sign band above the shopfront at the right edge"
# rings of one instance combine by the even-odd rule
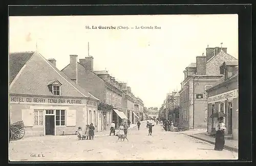
[[[238,98],[238,89],[230,90],[221,94],[217,94],[216,96],[208,97],[208,103],[216,103],[225,100],[231,100],[234,98]]]

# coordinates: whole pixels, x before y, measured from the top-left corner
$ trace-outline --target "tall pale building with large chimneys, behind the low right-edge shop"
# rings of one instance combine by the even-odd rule
[[[214,85],[223,75],[219,66],[227,60],[237,60],[227,54],[227,48],[206,48],[206,56],[197,56],[185,70],[180,93],[180,123],[187,129],[207,127],[206,88]]]

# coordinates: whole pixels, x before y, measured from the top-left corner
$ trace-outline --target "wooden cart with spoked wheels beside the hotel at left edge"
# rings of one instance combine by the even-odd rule
[[[25,135],[23,121],[15,122],[10,126],[10,140],[17,140]]]

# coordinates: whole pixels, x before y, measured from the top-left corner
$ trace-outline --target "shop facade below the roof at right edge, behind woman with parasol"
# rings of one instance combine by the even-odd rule
[[[232,89],[232,90],[231,90]],[[224,112],[224,123],[227,128],[226,135],[238,139],[238,79],[224,82],[221,86],[215,86],[208,91],[208,133],[214,130],[217,118],[209,118],[215,112]]]

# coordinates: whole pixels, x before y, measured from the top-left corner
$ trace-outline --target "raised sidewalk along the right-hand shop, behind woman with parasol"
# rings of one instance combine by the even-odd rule
[[[206,131],[207,129],[194,129],[194,130],[180,131],[179,133],[206,141],[207,143],[210,143],[210,144],[215,144],[215,137],[210,137],[206,135]],[[224,149],[238,152],[238,140],[225,139]]]

